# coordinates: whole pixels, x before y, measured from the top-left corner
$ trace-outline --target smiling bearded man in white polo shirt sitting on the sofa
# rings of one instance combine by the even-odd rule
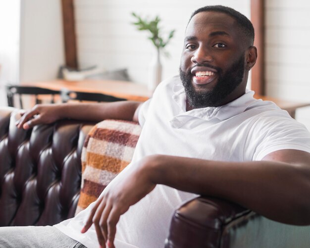
[[[245,16],[207,6],[188,23],[180,77],[162,82],[144,104],[39,105],[23,115],[17,126],[25,129],[65,117],[143,125],[132,163],[96,202],[55,225],[62,239],[87,247],[163,247],[173,210],[196,194],[237,202],[276,221],[310,224],[304,197],[310,194],[310,134],[246,90],[257,59],[253,42]],[[23,234],[29,237],[30,229]],[[6,230],[1,237],[10,236]]]

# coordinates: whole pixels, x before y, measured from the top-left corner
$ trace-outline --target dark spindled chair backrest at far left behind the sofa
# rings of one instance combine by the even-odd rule
[[[31,87],[31,86],[20,86],[20,85],[6,85],[6,97],[7,97],[7,104],[10,107],[19,107],[24,108],[25,105],[23,104],[23,95],[31,95],[35,98],[35,104],[41,103],[42,100],[39,98],[40,95],[50,95],[49,103],[55,102],[55,96],[60,96],[59,91],[54,91],[50,89],[40,88],[40,87]],[[19,101],[19,106],[17,106],[14,102],[15,97],[17,96]],[[29,107],[29,106],[28,106]],[[30,106],[32,107],[32,106]]]

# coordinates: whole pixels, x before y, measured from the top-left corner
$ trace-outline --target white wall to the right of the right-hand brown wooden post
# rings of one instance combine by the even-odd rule
[[[266,93],[310,102],[310,1],[266,0]],[[310,130],[310,107],[296,119]]]

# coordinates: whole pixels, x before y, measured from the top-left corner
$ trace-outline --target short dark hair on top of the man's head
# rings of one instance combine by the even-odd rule
[[[227,6],[222,6],[222,5],[209,5],[205,7],[201,7],[199,9],[196,9],[193,14],[191,15],[191,19],[193,18],[194,15],[200,13],[200,12],[207,12],[207,11],[214,11],[214,12],[221,12],[230,15],[232,18],[234,18],[240,27],[240,31],[242,34],[249,39],[249,42],[251,45],[254,43],[254,27],[252,22],[243,14],[238,12],[237,10],[227,7]]]

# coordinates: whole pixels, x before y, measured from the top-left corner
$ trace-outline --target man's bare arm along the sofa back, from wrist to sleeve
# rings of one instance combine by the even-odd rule
[[[105,103],[64,103],[59,105],[60,117],[102,121],[104,119],[135,120],[135,112],[141,102],[117,101]]]

